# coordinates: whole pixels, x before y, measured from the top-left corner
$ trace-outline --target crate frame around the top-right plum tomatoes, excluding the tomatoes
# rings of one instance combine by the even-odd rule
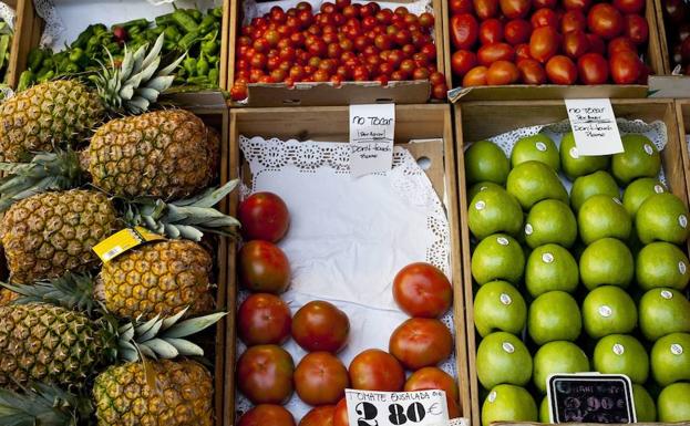
[[[663,74],[665,67],[661,59],[659,30],[657,29],[657,18],[655,1],[646,0],[645,17],[649,23],[649,42],[645,52],[645,61],[651,67],[653,74]],[[450,35],[450,9],[447,1],[443,3],[443,37],[445,49],[445,74],[453,75],[451,71],[451,55],[455,51]],[[453,79],[453,84],[449,87],[454,90],[449,93],[451,102],[466,101],[509,101],[509,100],[562,100],[562,98],[587,98],[587,97],[647,97],[648,86],[640,84],[603,84],[603,85],[556,85],[544,84],[528,86],[524,84],[511,84],[504,86],[480,86],[460,87],[457,79]],[[457,89],[455,89],[457,87]]]

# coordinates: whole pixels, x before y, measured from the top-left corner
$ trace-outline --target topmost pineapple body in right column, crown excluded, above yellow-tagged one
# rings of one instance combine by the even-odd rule
[[[116,118],[89,145],[93,184],[122,197],[175,199],[209,184],[217,158],[204,122],[184,110]]]

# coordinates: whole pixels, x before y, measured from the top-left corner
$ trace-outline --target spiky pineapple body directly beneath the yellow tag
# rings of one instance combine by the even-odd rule
[[[213,309],[210,254],[188,240],[157,241],[126,251],[105,263],[99,276],[102,299],[120,318],[172,316]]]

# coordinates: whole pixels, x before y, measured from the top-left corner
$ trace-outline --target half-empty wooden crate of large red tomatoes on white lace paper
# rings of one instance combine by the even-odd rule
[[[360,177],[348,106],[230,115],[244,241],[228,292],[225,424],[375,417],[348,418],[358,402],[346,389],[395,392],[400,422],[467,417],[450,106],[397,105],[390,170]],[[429,412],[410,408],[423,389],[445,394]]]

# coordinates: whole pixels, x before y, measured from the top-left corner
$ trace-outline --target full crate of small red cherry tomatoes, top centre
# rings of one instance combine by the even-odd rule
[[[445,100],[441,3],[234,2],[231,100],[246,106]]]

